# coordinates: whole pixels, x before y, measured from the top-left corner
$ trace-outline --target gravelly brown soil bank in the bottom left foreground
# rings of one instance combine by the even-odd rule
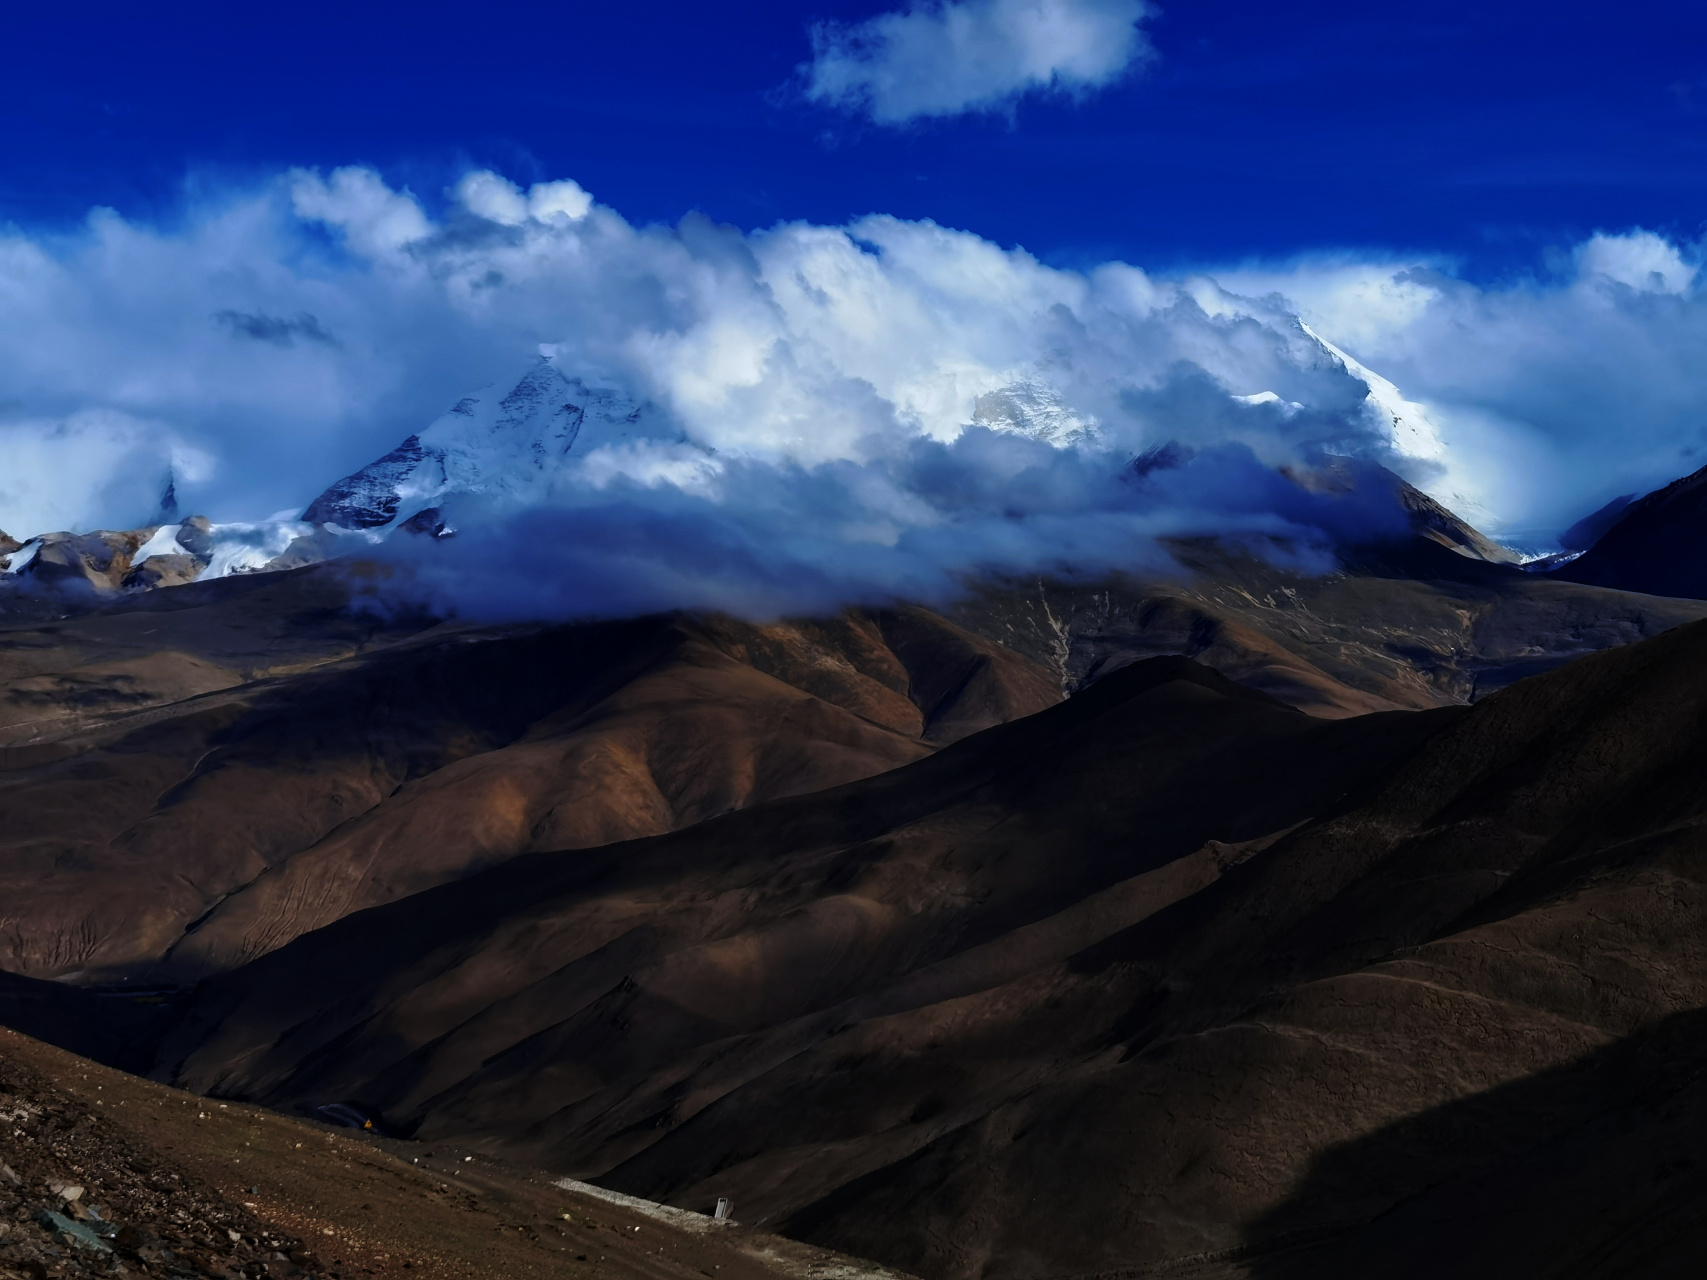
[[[0,1208],[63,1207],[46,1181],[145,1241],[118,1242],[131,1275],[316,1275],[384,1280],[886,1280],[893,1273],[731,1224],[678,1225],[647,1207],[553,1186],[459,1147],[353,1137],[213,1103],[0,1031],[0,1094],[31,1111],[0,1130]],[[0,1213],[0,1277],[109,1275],[27,1213]],[[230,1241],[229,1232],[241,1237]],[[285,1254],[280,1258],[278,1254]],[[290,1263],[295,1256],[300,1266]],[[312,1256],[304,1256],[312,1254]],[[89,1270],[77,1270],[90,1263]]]

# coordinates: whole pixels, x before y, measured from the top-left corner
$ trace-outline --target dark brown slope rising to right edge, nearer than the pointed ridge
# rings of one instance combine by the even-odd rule
[[[790,1229],[881,1242],[930,1275],[1169,1260],[1159,1273],[1362,1273],[1285,1260],[1347,1232],[1357,1248],[1296,1256],[1395,1261],[1429,1220],[1427,1201],[1413,1217],[1400,1207],[1436,1196],[1434,1222],[1458,1231],[1478,1164],[1531,1167],[1584,1125],[1601,1137],[1577,1135],[1581,1159],[1623,1159],[1617,1116],[1647,1106],[1640,1072],[1591,1072],[1611,1096],[1536,1082],[1558,1113],[1531,1104],[1473,1142],[1446,1113],[1408,1118],[1502,1085],[1523,1096],[1516,1082],[1707,1005],[1704,672],[1707,628],[1690,626],[1490,698],[1372,802],[1057,971],[1041,985],[1074,1050],[1053,1079]],[[1654,1043],[1681,1046],[1676,1034]],[[975,1019],[954,1041],[976,1058],[1011,1051]],[[905,1232],[877,1227],[896,1215]],[[1562,1222],[1560,1237],[1610,1248],[1615,1227]],[[1512,1242],[1499,1220],[1478,1231]],[[1567,1254],[1507,1273],[1574,1273]]]

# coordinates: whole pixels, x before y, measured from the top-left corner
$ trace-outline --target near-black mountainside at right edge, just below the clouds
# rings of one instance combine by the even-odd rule
[[[1628,503],[1588,551],[1552,577],[1647,596],[1707,597],[1707,468]]]

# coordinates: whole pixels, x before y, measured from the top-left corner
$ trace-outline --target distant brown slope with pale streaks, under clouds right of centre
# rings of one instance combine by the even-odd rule
[[[1424,539],[1302,573],[1176,543],[1171,580],[983,582],[949,613],[1074,689],[1186,654],[1311,715],[1449,707],[1584,654],[1707,618],[1707,602],[1560,582]]]

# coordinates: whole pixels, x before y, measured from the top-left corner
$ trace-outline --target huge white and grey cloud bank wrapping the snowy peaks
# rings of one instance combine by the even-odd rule
[[[0,527],[133,526],[167,474],[215,521],[300,512],[541,358],[645,413],[516,459],[548,483],[466,495],[454,539],[393,539],[483,614],[930,596],[1195,532],[1325,565],[1391,519],[1280,474],[1333,457],[1543,541],[1707,461],[1698,247],[1651,232],[1482,288],[1425,261],[1065,271],[893,217],[637,227],[485,171],[444,196],[299,171],[171,230],[0,234]],[[1128,468],[1168,442],[1183,466]]]

